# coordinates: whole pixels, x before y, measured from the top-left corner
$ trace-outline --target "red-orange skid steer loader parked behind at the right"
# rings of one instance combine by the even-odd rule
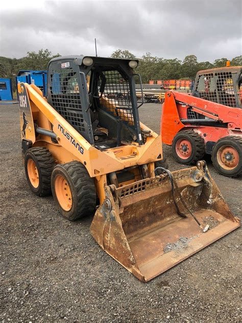
[[[242,66],[200,71],[192,95],[169,92],[162,108],[162,142],[180,164],[204,154],[225,176],[242,173]]]

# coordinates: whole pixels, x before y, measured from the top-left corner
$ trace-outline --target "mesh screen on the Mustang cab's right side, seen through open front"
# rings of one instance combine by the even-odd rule
[[[101,107],[116,119],[122,119],[128,121],[129,125],[134,125],[129,82],[118,71],[106,71],[104,75],[106,84]]]

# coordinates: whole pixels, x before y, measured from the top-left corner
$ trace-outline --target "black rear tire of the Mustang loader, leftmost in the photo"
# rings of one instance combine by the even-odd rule
[[[37,168],[38,186],[34,186],[30,178],[28,165],[34,162]],[[32,163],[33,163],[32,162]],[[25,154],[25,174],[31,190],[38,196],[51,195],[51,174],[55,167],[55,160],[45,147],[30,148]],[[37,184],[37,183],[36,183]]]

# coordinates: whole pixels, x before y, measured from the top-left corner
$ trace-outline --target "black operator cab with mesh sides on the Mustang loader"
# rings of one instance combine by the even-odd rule
[[[47,101],[85,139],[103,150],[143,143],[133,68],[137,60],[57,57],[48,66]],[[141,83],[141,82],[140,82]]]

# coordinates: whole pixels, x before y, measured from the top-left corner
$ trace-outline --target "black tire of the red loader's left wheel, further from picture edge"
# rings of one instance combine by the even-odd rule
[[[191,146],[191,152],[188,148],[187,155],[188,157],[184,159],[179,156],[177,149],[177,144],[182,140],[188,141]],[[187,146],[186,146],[187,147]],[[186,148],[187,149],[187,148]],[[178,132],[172,142],[172,153],[176,161],[183,165],[193,165],[198,162],[198,160],[203,159],[205,154],[205,144],[203,138],[193,130],[183,130]]]

